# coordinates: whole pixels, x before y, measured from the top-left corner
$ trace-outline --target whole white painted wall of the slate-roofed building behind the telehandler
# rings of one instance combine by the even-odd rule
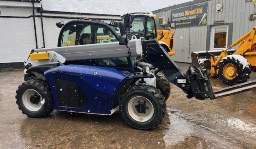
[[[1,2],[1,1],[0,1]],[[12,3],[9,1],[9,3]],[[8,3],[8,4],[9,4]],[[1,4],[1,3],[0,3]],[[1,16],[23,16],[32,15],[32,4],[25,3],[24,8],[20,8],[20,3],[15,3],[19,7],[3,7],[0,5]],[[7,3],[5,4],[7,5]],[[11,4],[9,4],[11,5]],[[35,15],[40,15],[35,9]],[[116,16],[90,16],[76,14],[49,14],[43,15],[64,16],[64,17],[88,17],[88,18],[105,18],[105,19],[120,19]],[[65,23],[74,19],[58,19],[58,18],[43,18],[44,37],[46,48],[56,47],[58,36],[61,28],[56,27],[55,23],[64,21]],[[41,18],[36,17],[36,31],[38,48],[43,47],[43,35],[41,27]],[[110,21],[106,21],[110,22]],[[31,18],[0,18],[0,63],[23,62],[29,56],[32,49],[36,48],[35,32],[33,17]]]

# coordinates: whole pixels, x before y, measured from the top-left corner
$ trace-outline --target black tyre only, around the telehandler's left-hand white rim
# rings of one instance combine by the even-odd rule
[[[25,91],[29,90],[35,90],[39,94],[39,96],[41,96],[41,99],[44,100],[44,103],[37,102],[37,104],[34,104],[38,105],[39,103],[42,105],[41,107],[38,107],[40,109],[38,109],[37,111],[31,111],[30,109],[26,108],[22,101],[23,94],[25,93]],[[16,91],[15,98],[17,99],[16,103],[19,106],[19,109],[22,111],[23,114],[26,114],[28,117],[44,117],[49,115],[54,110],[52,92],[49,89],[47,82],[43,81],[42,79],[32,79],[23,82]],[[31,102],[31,98],[29,101]]]

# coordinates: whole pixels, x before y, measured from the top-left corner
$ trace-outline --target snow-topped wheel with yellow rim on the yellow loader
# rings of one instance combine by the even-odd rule
[[[219,63],[219,77],[227,85],[246,82],[250,74],[250,64],[241,55],[228,55]]]

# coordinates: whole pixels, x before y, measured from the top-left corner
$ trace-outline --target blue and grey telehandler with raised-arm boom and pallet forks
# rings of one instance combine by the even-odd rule
[[[32,50],[24,61],[25,82],[16,91],[22,113],[29,117],[44,117],[53,110],[110,115],[119,109],[130,126],[152,129],[166,114],[166,99],[156,88],[158,71],[187,98],[215,99],[256,87],[252,81],[213,92],[205,68],[191,65],[184,74],[156,39],[134,36],[128,40],[130,22],[131,15],[125,15],[117,37],[106,23],[85,21],[93,24],[90,30],[103,26],[102,31],[110,31],[119,42]],[[65,35],[76,36],[78,27],[85,24],[65,24],[59,44],[70,42]],[[96,42],[97,37],[91,35]],[[141,59],[132,61],[136,56]]]

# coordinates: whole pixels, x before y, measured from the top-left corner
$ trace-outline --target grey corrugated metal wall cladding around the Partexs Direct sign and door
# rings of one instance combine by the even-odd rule
[[[199,0],[198,0],[199,1]],[[204,1],[205,2],[205,1]],[[201,1],[201,3],[204,3]],[[216,4],[223,3],[223,11],[216,12]],[[186,4],[186,3],[185,3]],[[200,4],[200,3],[196,3]],[[179,7],[182,8],[182,7]],[[179,9],[176,8],[176,9]],[[209,0],[207,25],[214,21],[224,20],[225,24],[233,23],[232,43],[256,26],[256,20],[250,21],[249,15],[256,9],[251,0]],[[173,9],[175,10],[175,9]],[[154,13],[154,11],[153,11]],[[166,16],[171,18],[171,10],[156,11],[157,18]],[[158,20],[157,20],[158,26]],[[158,29],[162,29],[158,27]],[[175,32],[174,50],[172,58],[178,62],[191,62],[191,52],[206,50],[207,26],[177,28]],[[235,49],[235,48],[234,48]]]

